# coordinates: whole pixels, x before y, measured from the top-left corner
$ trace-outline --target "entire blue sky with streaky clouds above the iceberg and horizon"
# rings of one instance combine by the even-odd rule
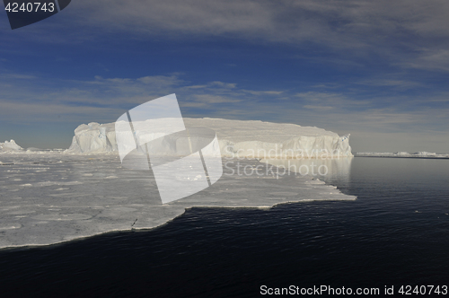
[[[183,117],[449,153],[448,37],[446,0],[73,0],[16,30],[4,12],[0,142],[67,148],[77,126],[176,93]]]

